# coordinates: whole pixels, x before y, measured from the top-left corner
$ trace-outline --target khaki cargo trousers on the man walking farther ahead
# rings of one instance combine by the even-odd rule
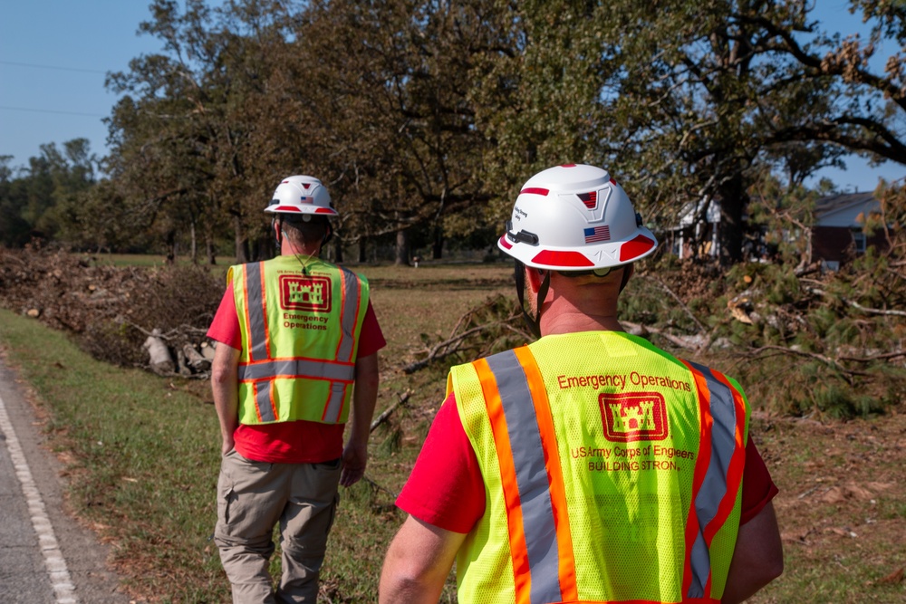
[[[325,464],[268,464],[230,451],[217,481],[217,528],[226,576],[236,604],[314,602],[318,574],[340,495],[340,460]],[[283,577],[268,573],[280,523]]]

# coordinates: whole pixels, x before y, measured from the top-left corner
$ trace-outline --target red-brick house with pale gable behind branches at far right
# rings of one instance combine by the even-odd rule
[[[865,235],[868,216],[881,213],[881,203],[873,193],[846,193],[822,197],[814,204],[812,262],[821,261],[836,271],[841,264],[864,254],[868,247],[887,247],[882,232]]]

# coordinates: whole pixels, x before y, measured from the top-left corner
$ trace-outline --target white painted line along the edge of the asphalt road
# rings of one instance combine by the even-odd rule
[[[38,493],[38,488],[34,484],[32,472],[28,469],[28,464],[25,462],[22,446],[19,446],[19,439],[15,437],[15,430],[9,420],[9,416],[6,414],[6,407],[2,397],[0,397],[0,429],[6,435],[6,448],[9,449],[9,455],[13,459],[15,475],[19,478],[19,482],[22,483],[22,493],[25,495],[28,513],[32,517],[34,532],[38,535],[38,544],[41,546],[44,566],[47,567],[47,574],[51,579],[53,595],[57,604],[75,604],[79,601],[75,597],[75,586],[72,585],[69,570],[66,570],[66,561],[63,560],[60,545],[53,535],[53,526],[51,526],[51,521],[45,512],[41,494]]]

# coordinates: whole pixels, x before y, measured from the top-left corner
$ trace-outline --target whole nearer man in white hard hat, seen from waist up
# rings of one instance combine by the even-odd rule
[[[625,333],[652,254],[602,168],[535,175],[498,246],[540,339],[450,370],[397,499],[383,604],[740,602],[783,569],[777,490],[737,382]]]

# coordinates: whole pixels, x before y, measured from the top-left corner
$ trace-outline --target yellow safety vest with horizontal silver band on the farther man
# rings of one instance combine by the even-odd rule
[[[368,282],[318,259],[295,256],[231,266],[242,333],[239,421],[349,417]]]

